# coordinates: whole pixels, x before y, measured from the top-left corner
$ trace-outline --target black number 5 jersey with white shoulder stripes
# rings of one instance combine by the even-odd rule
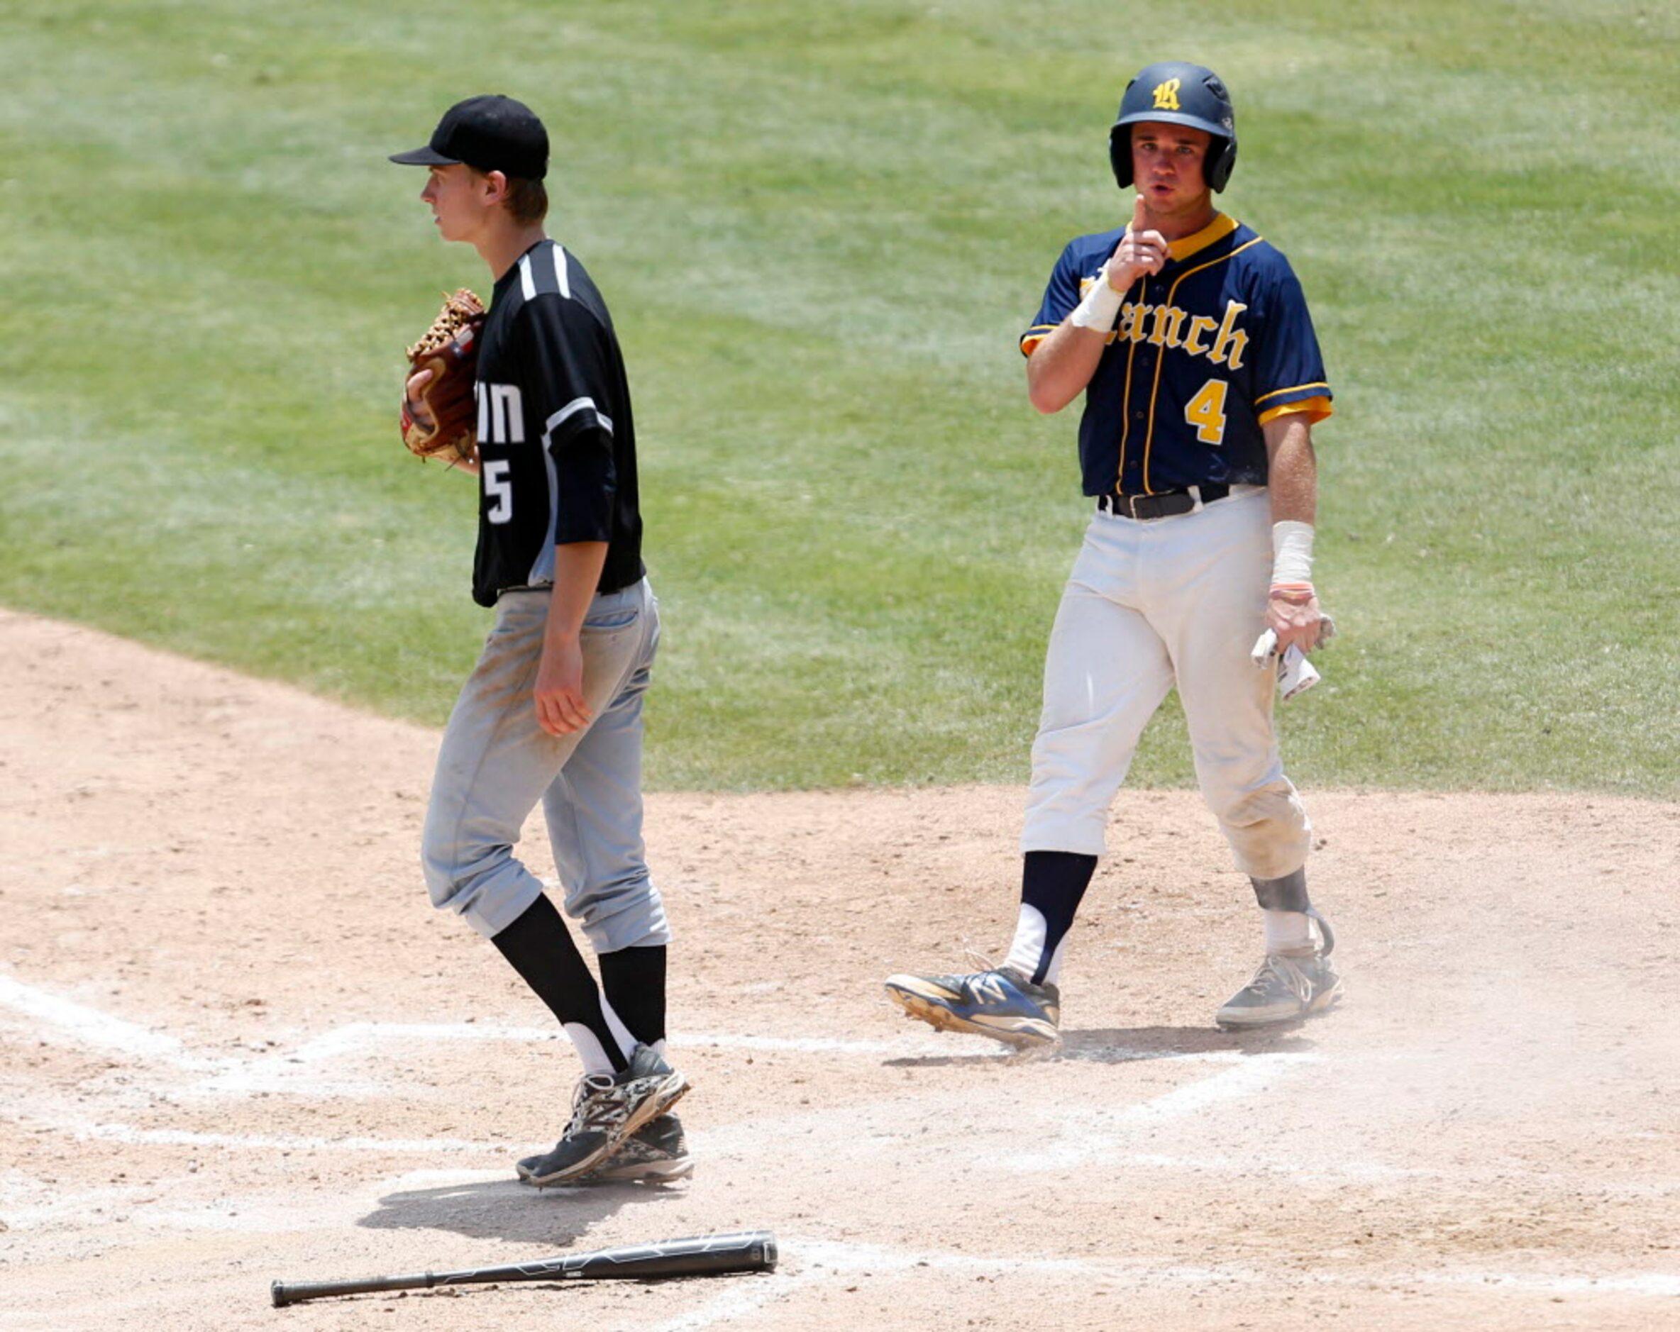
[[[479,334],[472,598],[554,581],[554,546],[605,541],[600,591],[642,578],[630,383],[600,291],[539,240],[496,282]]]

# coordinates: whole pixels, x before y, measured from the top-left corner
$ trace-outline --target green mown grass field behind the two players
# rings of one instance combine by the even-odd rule
[[[487,282],[385,155],[504,91],[630,363],[650,783],[1020,781],[1087,504],[1015,339],[1184,57],[1337,391],[1297,781],[1680,794],[1673,0],[10,0],[0,49],[0,603],[442,722],[472,485],[393,417]],[[1171,709],[1132,781],[1189,781]]]

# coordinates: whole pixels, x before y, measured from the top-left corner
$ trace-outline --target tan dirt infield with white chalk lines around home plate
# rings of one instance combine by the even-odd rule
[[[0,643],[0,1327],[1680,1327],[1680,806],[1307,791],[1349,998],[1257,1036],[1245,880],[1122,793],[1021,1062],[880,991],[1006,944],[1018,789],[655,796],[699,1169],[539,1193],[575,1060],[425,900],[435,734]],[[771,1277],[269,1307],[756,1228]]]

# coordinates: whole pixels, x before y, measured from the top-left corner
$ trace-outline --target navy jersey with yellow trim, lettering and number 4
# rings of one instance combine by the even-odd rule
[[[1099,279],[1126,228],[1068,242],[1050,274],[1032,356]],[[1126,292],[1085,388],[1079,459],[1087,496],[1184,485],[1265,485],[1260,427],[1289,412],[1331,415],[1307,299],[1289,260],[1218,215],[1171,244],[1159,274]]]

